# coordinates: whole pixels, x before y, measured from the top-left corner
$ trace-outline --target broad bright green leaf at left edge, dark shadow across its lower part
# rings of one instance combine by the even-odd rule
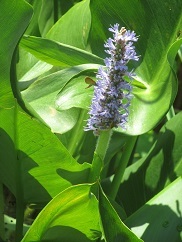
[[[78,164],[48,128],[18,107],[0,110],[0,127],[1,179],[26,203],[46,203],[88,181],[90,165]]]

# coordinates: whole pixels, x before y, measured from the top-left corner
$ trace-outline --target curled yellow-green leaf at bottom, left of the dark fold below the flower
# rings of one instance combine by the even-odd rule
[[[100,237],[98,201],[90,187],[72,186],[53,198],[22,242],[89,242]]]

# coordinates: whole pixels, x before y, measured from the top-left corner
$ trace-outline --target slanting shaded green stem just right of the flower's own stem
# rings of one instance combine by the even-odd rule
[[[121,162],[119,164],[119,167],[117,168],[117,171],[115,173],[115,176],[114,176],[112,184],[111,184],[111,191],[110,191],[109,196],[113,200],[116,198],[116,195],[118,193],[124,171],[127,167],[128,161],[129,161],[130,156],[133,151],[133,148],[135,147],[136,140],[137,140],[137,136],[131,136],[128,139],[127,143],[125,144],[125,149],[124,149],[122,157],[121,157]]]

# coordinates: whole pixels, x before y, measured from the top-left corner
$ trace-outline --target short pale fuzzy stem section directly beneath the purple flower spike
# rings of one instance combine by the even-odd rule
[[[102,160],[104,160],[104,157],[106,155],[106,151],[108,149],[111,136],[112,136],[112,129],[107,131],[102,131],[97,140],[95,152]]]

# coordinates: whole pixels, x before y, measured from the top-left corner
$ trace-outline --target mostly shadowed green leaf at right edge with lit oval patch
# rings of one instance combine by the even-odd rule
[[[181,123],[182,112],[164,125],[148,154],[125,170],[119,197],[127,214],[182,175]]]

